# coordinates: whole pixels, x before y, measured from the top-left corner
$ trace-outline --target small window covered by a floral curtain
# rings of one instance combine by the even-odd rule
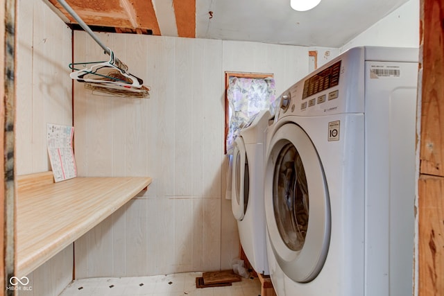
[[[239,130],[262,110],[274,111],[275,80],[270,73],[225,72],[225,154]]]

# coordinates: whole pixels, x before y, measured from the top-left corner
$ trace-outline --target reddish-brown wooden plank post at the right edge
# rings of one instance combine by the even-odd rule
[[[444,295],[444,1],[421,0],[420,7],[418,291],[438,296]]]

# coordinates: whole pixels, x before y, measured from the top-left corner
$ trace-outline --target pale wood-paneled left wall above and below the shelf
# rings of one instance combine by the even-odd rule
[[[16,175],[50,169],[46,123],[71,125],[71,30],[42,0],[16,1]],[[20,243],[19,241],[17,243]],[[24,295],[58,295],[72,279],[73,246],[30,275]]]

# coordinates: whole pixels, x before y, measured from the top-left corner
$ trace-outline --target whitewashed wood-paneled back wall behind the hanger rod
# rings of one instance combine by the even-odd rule
[[[76,277],[231,268],[239,238],[225,200],[224,71],[275,73],[278,94],[307,74],[305,47],[99,34],[151,98],[74,85],[78,173],[148,175],[148,192],[75,243]],[[83,32],[75,62],[106,60]]]

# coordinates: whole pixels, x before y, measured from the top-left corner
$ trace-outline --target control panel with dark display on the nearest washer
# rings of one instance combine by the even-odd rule
[[[364,49],[350,49],[283,92],[277,116],[364,112],[364,73]]]

